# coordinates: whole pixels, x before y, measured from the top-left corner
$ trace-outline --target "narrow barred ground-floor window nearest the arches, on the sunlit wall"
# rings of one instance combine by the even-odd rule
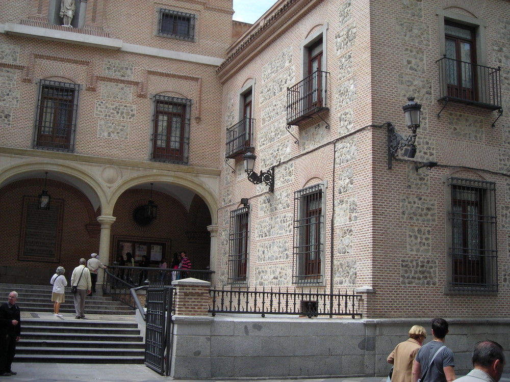
[[[250,206],[230,212],[230,246],[228,249],[228,283],[247,280],[249,254]]]

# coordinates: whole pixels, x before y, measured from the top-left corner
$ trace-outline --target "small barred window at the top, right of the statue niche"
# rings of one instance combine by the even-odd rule
[[[160,9],[158,34],[176,39],[194,41],[195,15]]]

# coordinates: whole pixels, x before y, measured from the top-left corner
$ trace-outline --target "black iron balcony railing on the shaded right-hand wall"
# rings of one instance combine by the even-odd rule
[[[473,104],[490,110],[501,108],[501,68],[491,68],[446,57],[439,65],[439,100]]]

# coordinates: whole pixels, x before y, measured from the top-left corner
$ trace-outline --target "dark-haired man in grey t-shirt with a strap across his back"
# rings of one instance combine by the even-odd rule
[[[445,346],[432,361],[436,351],[444,345],[447,333],[448,322],[446,320],[442,318],[432,320],[432,335],[434,339],[423,345],[418,350],[418,354],[416,354],[416,359],[413,363],[413,382],[416,382],[418,378],[421,378],[422,382],[451,382],[455,379],[453,351]],[[431,361],[432,363],[430,364]]]

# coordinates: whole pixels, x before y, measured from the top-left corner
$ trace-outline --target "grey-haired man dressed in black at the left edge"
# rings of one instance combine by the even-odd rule
[[[11,370],[11,364],[16,354],[16,342],[21,334],[19,308],[16,305],[18,293],[9,293],[7,303],[0,306],[0,375],[17,374]]]

